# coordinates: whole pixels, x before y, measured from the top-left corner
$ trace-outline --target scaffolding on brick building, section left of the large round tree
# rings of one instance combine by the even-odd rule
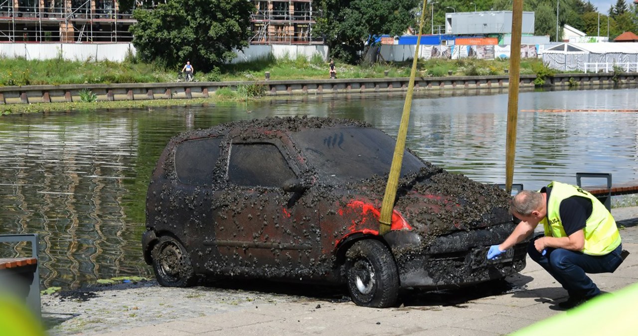
[[[130,42],[117,0],[0,0],[0,42]]]

